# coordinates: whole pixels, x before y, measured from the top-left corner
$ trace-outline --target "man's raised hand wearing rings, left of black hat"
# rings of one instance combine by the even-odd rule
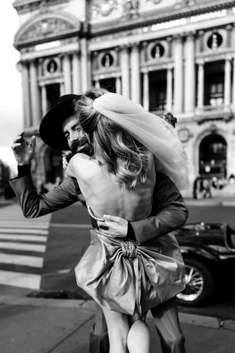
[[[11,146],[17,163],[20,166],[30,164],[35,152],[36,136],[32,136],[30,145],[27,145],[24,138],[24,131],[21,131],[18,136],[13,139]]]

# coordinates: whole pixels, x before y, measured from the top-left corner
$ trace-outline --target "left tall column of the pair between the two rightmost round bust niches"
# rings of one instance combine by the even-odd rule
[[[183,111],[183,38],[175,37],[174,46],[174,112]]]

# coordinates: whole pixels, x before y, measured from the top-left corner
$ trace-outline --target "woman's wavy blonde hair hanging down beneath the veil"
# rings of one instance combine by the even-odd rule
[[[98,164],[107,170],[113,183],[132,189],[146,181],[146,148],[124,128],[93,108],[95,98],[107,92],[103,88],[88,89],[74,101],[74,109],[82,130],[91,139]]]

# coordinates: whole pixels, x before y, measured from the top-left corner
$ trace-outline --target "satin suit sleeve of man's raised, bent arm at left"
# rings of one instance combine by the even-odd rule
[[[26,218],[36,218],[60,210],[77,201],[82,201],[82,194],[77,181],[69,178],[53,190],[38,195],[33,185],[32,176],[10,180],[20,207]]]

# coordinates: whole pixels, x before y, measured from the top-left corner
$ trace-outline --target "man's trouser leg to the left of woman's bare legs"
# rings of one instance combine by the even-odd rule
[[[95,304],[95,323],[90,331],[90,353],[109,353],[109,336],[103,310]]]

